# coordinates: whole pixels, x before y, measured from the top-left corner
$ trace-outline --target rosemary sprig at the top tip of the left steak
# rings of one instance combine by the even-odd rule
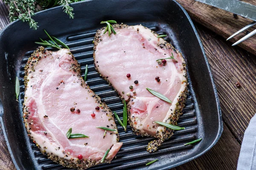
[[[59,45],[62,45],[64,48],[69,49],[68,46],[64,42],[62,42],[61,40],[59,40],[56,37],[50,36],[45,29],[44,29],[44,32],[45,32],[45,34],[47,34],[47,36],[49,37],[50,40],[46,41],[46,40],[42,40],[41,38],[39,38],[42,42],[35,42],[36,44],[46,45],[46,47],[53,47],[53,48],[58,48],[58,49],[61,49],[61,47]]]

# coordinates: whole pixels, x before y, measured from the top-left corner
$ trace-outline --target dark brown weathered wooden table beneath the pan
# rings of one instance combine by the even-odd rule
[[[9,23],[0,0],[0,30]],[[218,143],[198,159],[174,170],[236,169],[244,130],[256,113],[256,56],[195,23],[211,65],[221,102],[224,131]],[[255,37],[254,37],[255,39]],[[241,87],[236,87],[240,82]],[[0,170],[15,169],[0,126]]]

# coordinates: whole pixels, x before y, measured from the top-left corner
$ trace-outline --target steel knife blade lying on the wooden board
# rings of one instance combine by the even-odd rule
[[[256,21],[256,6],[239,0],[196,0]]]

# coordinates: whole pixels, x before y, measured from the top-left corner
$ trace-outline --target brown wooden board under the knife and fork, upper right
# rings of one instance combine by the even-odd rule
[[[256,0],[242,1],[256,5]],[[252,22],[252,20],[247,18],[241,16],[234,17],[231,12],[212,7],[195,0],[177,0],[177,2],[186,9],[193,20],[201,23],[225,39]],[[253,26],[252,28],[248,29],[248,31],[253,31],[255,29],[256,26]],[[245,35],[246,31],[240,33],[230,41],[236,42]],[[244,42],[241,42],[239,46],[256,55],[256,35],[250,37]]]

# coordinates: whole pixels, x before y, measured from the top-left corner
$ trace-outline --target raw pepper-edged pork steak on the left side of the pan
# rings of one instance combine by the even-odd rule
[[[29,137],[49,159],[76,169],[110,162],[122,143],[110,109],[90,90],[68,49],[39,47],[25,67],[23,117]],[[107,131],[96,127],[108,127]],[[68,139],[66,133],[89,137]],[[72,135],[71,135],[72,136]]]

